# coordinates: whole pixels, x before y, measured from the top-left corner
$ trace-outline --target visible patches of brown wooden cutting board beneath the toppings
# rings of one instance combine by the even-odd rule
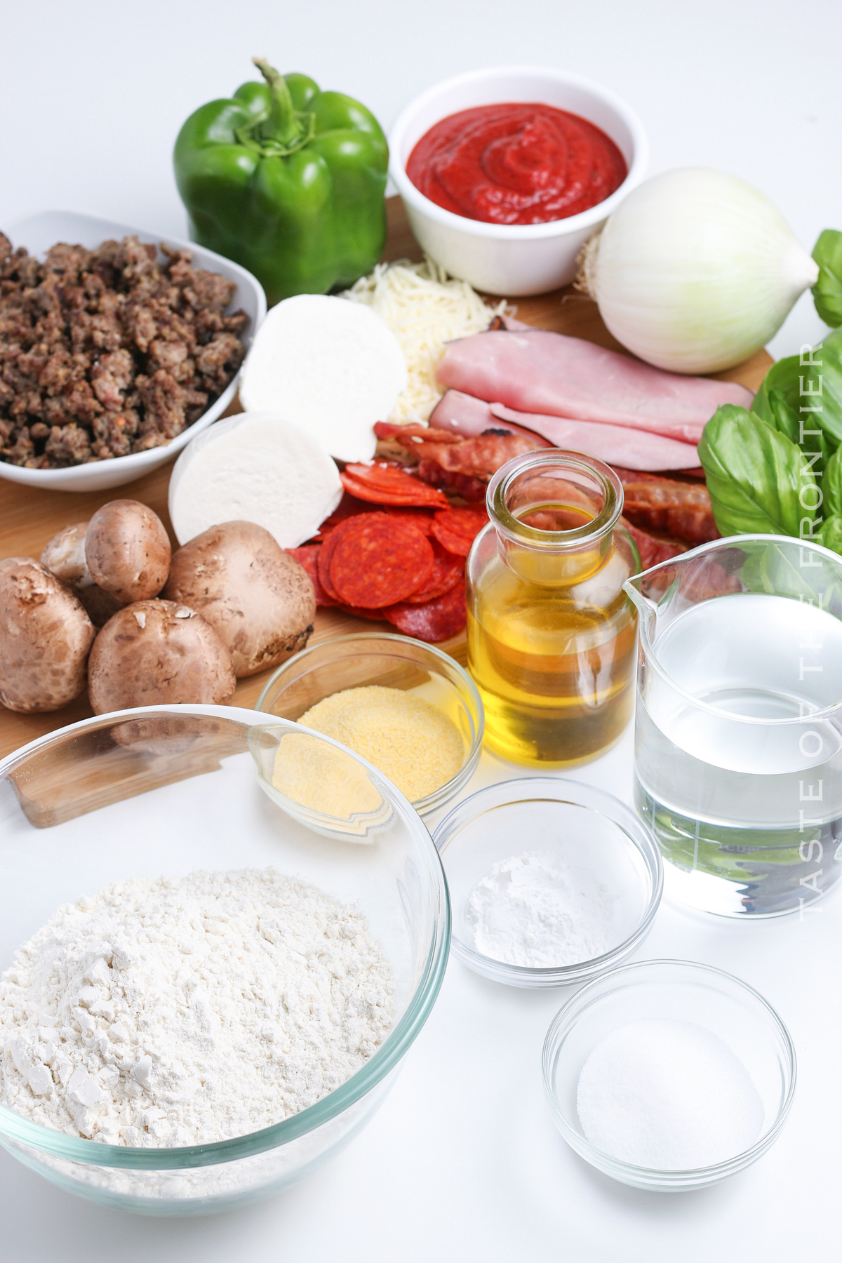
[[[420,259],[422,253],[413,237],[403,202],[399,197],[390,197],[386,201],[389,218],[389,236],[384,259]],[[25,245],[27,242],[21,242]],[[514,304],[519,320],[538,328],[552,328],[559,333],[572,333],[576,337],[586,337],[601,346],[614,350],[622,347],[611,337],[605,325],[600,320],[596,303],[582,294],[573,292],[572,287],[559,289],[550,294],[540,294],[537,298],[520,298]],[[757,351],[750,360],[732,369],[727,374],[717,374],[730,381],[741,381],[751,390],[756,390],[762,381],[771,359],[765,351]],[[226,416],[241,412],[240,404],[235,400]],[[167,489],[172,466],[167,465],[146,477],[138,479],[136,482],[127,482],[121,488],[112,488],[110,491],[92,494],[78,494],[73,491],[44,491],[38,488],[20,486],[16,482],[0,480],[0,556],[3,557],[40,557],[42,548],[47,541],[62,527],[72,522],[83,522],[105,504],[120,496],[134,500],[143,500],[150,505],[164,522],[173,537],[167,512]],[[316,615],[316,632],[311,643],[327,640],[331,637],[343,635],[352,632],[382,630],[382,623],[370,623],[364,619],[342,614],[338,610],[319,610]],[[391,629],[390,629],[391,630]],[[465,637],[454,637],[446,640],[441,648],[453,654],[454,658],[465,661]],[[232,705],[252,707],[269,678],[270,672],[251,676],[237,683],[237,690],[232,698]],[[16,715],[0,706],[0,757],[33,741],[35,738],[53,729],[74,724],[77,720],[87,719],[92,714],[87,697],[78,697],[69,706],[59,711],[50,711],[40,715]]]

